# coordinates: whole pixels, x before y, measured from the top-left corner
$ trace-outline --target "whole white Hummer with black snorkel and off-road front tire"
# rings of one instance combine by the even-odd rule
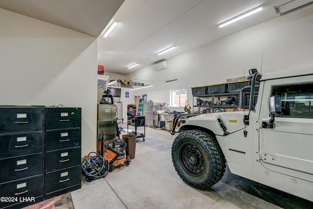
[[[313,67],[250,70],[248,111],[174,118],[172,160],[180,178],[207,189],[233,174],[313,201]],[[241,90],[240,107],[246,90]]]

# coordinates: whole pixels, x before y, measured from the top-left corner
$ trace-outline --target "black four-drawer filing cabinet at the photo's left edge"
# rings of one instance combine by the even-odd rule
[[[0,106],[0,208],[44,200],[44,108]]]

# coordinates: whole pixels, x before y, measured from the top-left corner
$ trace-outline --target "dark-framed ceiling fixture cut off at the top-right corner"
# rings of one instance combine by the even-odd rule
[[[287,15],[296,10],[302,9],[304,7],[310,6],[312,4],[313,4],[312,0],[291,0],[277,7],[274,6],[274,9],[277,14],[282,16]]]

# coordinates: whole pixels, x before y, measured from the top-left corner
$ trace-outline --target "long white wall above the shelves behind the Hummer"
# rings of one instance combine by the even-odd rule
[[[252,68],[261,71],[262,54],[263,73],[313,66],[312,37],[311,6],[179,54],[168,59],[167,69],[148,67],[127,77],[153,81],[154,87],[134,91],[138,95],[169,102],[171,90],[187,89],[187,102],[192,104],[191,87],[224,83]],[[178,81],[165,82],[172,79]]]

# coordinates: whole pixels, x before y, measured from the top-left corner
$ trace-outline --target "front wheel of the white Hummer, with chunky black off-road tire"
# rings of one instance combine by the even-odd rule
[[[225,157],[216,138],[200,130],[186,131],[176,137],[172,161],[180,178],[197,189],[215,185],[225,171]]]

